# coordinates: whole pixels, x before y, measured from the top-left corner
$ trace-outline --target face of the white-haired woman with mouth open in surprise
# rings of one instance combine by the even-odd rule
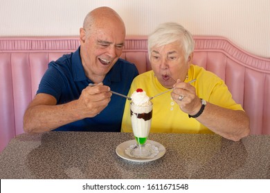
[[[152,47],[150,63],[156,78],[165,88],[172,88],[177,79],[184,81],[190,68],[190,57],[185,59],[185,53],[179,41],[167,45]]]

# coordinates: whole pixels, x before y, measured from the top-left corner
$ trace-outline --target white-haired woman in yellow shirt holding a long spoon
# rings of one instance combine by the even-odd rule
[[[148,96],[174,88],[152,99],[150,132],[216,133],[239,141],[249,135],[249,117],[222,79],[192,64],[194,47],[192,34],[183,26],[161,24],[148,37],[152,70],[134,79],[129,96],[137,88]],[[123,132],[132,132],[129,103],[125,103]]]

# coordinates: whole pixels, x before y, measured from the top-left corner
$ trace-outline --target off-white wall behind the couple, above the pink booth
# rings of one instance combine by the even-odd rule
[[[77,36],[84,16],[99,6],[114,8],[127,34],[177,21],[192,34],[227,37],[270,58],[269,0],[0,0],[0,37]]]

